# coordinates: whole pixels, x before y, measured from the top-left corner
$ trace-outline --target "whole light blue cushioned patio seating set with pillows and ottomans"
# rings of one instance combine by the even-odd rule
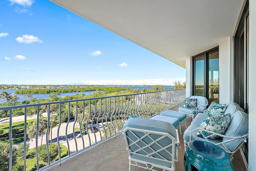
[[[232,159],[248,138],[248,114],[234,102],[212,102],[206,109],[207,105],[205,97],[184,97],[179,112],[167,110],[150,119],[128,119],[121,137],[129,153],[129,170],[132,165],[175,170],[181,148],[176,128],[183,121],[186,126],[187,115],[192,117],[192,123],[184,131],[185,150],[192,140],[206,141],[224,149]]]

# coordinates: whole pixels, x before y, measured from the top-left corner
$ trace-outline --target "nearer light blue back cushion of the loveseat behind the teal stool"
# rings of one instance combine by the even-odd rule
[[[231,116],[231,122],[228,126],[228,129],[224,133],[226,136],[232,136],[232,137],[242,137],[244,135],[248,134],[249,129],[249,120],[248,120],[248,114],[243,111],[236,111]],[[247,137],[244,137],[246,139]],[[228,141],[228,138],[223,138],[222,141]],[[240,145],[244,143],[242,139],[235,139],[233,141],[228,141],[224,143],[224,145],[230,150],[230,151],[236,151]]]

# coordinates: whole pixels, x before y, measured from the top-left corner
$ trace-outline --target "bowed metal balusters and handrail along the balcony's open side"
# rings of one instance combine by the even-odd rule
[[[171,107],[177,105],[180,103],[180,99],[182,96],[185,95],[185,89],[180,89],[180,90],[171,90],[171,91],[156,91],[156,92],[147,92],[147,93],[136,93],[136,94],[126,94],[126,95],[115,95],[115,96],[109,96],[109,97],[95,97],[95,98],[88,98],[88,99],[75,99],[75,100],[67,100],[67,101],[56,101],[56,102],[46,102],[46,103],[38,103],[38,104],[27,104],[27,105],[17,105],[17,106],[6,106],[6,107],[0,107],[0,111],[2,110],[9,110],[10,111],[10,123],[9,123],[9,137],[10,137],[10,163],[9,163],[9,170],[11,171],[12,169],[12,155],[13,155],[13,143],[12,143],[12,115],[13,115],[13,109],[16,108],[24,108],[24,159],[26,158],[26,135],[27,135],[27,127],[26,127],[26,123],[27,123],[27,107],[37,107],[37,119],[36,119],[36,169],[39,170],[39,161],[38,161],[38,157],[39,157],[39,151],[38,151],[38,138],[40,138],[39,133],[42,133],[41,130],[39,130],[38,128],[40,127],[39,124],[41,124],[41,122],[39,122],[39,115],[40,115],[40,109],[41,106],[44,105],[46,106],[45,108],[42,108],[42,110],[44,110],[43,112],[45,112],[47,110],[47,116],[48,116],[48,124],[47,124],[47,130],[46,130],[46,148],[47,148],[47,155],[48,155],[48,166],[53,165],[53,163],[50,163],[50,153],[49,153],[49,132],[50,132],[50,112],[52,113],[52,107],[54,105],[59,106],[59,110],[58,107],[57,109],[55,109],[56,113],[58,111],[58,115],[59,115],[59,123],[58,123],[58,127],[57,127],[57,133],[56,133],[56,138],[57,138],[57,145],[58,145],[58,155],[59,155],[59,160],[57,161],[57,163],[60,165],[61,164],[61,151],[60,151],[60,136],[66,136],[66,143],[67,143],[67,148],[68,148],[68,156],[71,156],[71,151],[74,151],[74,153],[79,152],[80,150],[84,150],[87,149],[88,147],[90,147],[92,145],[91,143],[91,136],[94,136],[95,139],[95,143],[98,143],[97,141],[97,137],[98,134],[100,135],[100,141],[108,139],[109,137],[113,137],[116,136],[117,133],[119,133],[120,131],[123,130],[123,125],[124,123],[127,121],[127,117],[129,114],[133,114],[133,115],[137,115],[139,117],[143,117],[143,118],[149,118],[152,117],[152,115],[156,115],[159,114],[162,111],[165,111],[167,109],[170,109]],[[118,98],[117,98],[118,97]],[[121,97],[121,98],[120,98]],[[109,98],[109,100],[107,100],[107,98]],[[99,101],[100,99],[100,101]],[[105,99],[104,101],[102,99]],[[94,100],[94,109],[92,108],[92,101]],[[112,100],[113,103],[112,103]],[[68,135],[71,135],[71,132],[69,130],[69,126],[68,124],[70,123],[70,114],[71,114],[71,109],[73,109],[74,105],[73,102],[76,102],[76,118],[74,119],[74,124],[72,125],[72,139],[68,139]],[[78,106],[78,102],[82,103],[82,106],[79,107]],[[89,102],[89,106],[87,105],[87,102]],[[97,103],[98,105],[100,105],[100,111],[99,113],[97,112]],[[118,103],[118,104],[117,104]],[[48,105],[48,106],[47,106]],[[102,105],[105,105],[105,109],[102,108]],[[66,129],[63,131],[60,131],[60,127],[61,127],[61,120],[62,120],[62,109],[63,107],[68,106],[68,121],[66,124]],[[112,107],[113,106],[113,107]],[[81,112],[79,111],[79,109],[81,108]],[[92,115],[92,110],[94,110],[94,115]],[[103,111],[104,110],[104,111]],[[85,116],[86,115],[86,116]],[[88,115],[88,116],[87,116]],[[75,133],[75,125],[76,122],[78,121],[78,118],[81,118],[81,120],[79,120],[80,122],[80,135],[81,136],[76,136]],[[86,117],[86,118],[85,118]],[[105,133],[105,137],[102,137],[102,133],[99,130],[99,133],[94,131],[94,123],[95,120],[97,119],[96,123],[97,123],[97,127],[98,129],[100,129],[99,124],[102,124],[103,127],[103,131]],[[117,121],[117,119],[119,121]],[[82,124],[84,122],[84,120],[86,120],[85,123],[85,128],[86,132],[87,132],[87,136],[84,137],[82,134]],[[101,121],[101,123],[99,123]],[[109,121],[111,122],[111,124],[109,124]],[[106,123],[105,123],[106,122]],[[107,136],[107,129],[105,129],[105,125],[104,123],[107,125],[108,127],[108,131],[109,134]],[[91,125],[90,125],[91,124]],[[116,124],[116,125],[115,125]],[[120,125],[119,125],[120,124]],[[93,134],[89,135],[89,131],[88,128],[92,127],[92,131]],[[114,129],[114,134],[110,131],[110,129],[112,129],[111,127],[113,127]],[[118,129],[117,129],[118,128]],[[63,134],[62,134],[63,132]],[[61,135],[60,135],[61,134]],[[111,135],[112,134],[112,135]],[[43,137],[41,137],[43,138]],[[45,137],[44,137],[45,138]],[[74,138],[74,139],[73,139]],[[77,143],[77,139],[82,139],[82,149],[78,149],[79,144]],[[85,140],[84,140],[85,138]],[[89,139],[89,141],[88,141]],[[76,147],[71,147],[69,145],[70,141],[75,141],[75,146]],[[88,141],[88,144],[87,144]],[[81,144],[80,143],[80,144]],[[94,144],[95,144],[94,143]],[[85,147],[86,145],[86,147]],[[24,171],[26,171],[26,161],[24,160]],[[55,163],[54,163],[55,164]]]

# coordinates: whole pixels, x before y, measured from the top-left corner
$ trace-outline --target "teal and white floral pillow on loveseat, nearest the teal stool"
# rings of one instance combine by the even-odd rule
[[[231,114],[225,114],[223,117],[215,117],[215,116],[210,116],[201,123],[200,128],[206,129],[208,131],[224,134],[226,130],[228,129],[228,126],[231,122]],[[208,133],[206,131],[198,131],[196,134],[198,137],[207,137],[209,135],[212,135],[212,133]],[[219,138],[218,135],[213,135],[211,137],[208,137],[208,139],[216,139]]]

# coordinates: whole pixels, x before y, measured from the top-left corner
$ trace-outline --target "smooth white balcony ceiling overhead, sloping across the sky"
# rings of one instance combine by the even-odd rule
[[[186,68],[233,36],[243,0],[50,0]]]

